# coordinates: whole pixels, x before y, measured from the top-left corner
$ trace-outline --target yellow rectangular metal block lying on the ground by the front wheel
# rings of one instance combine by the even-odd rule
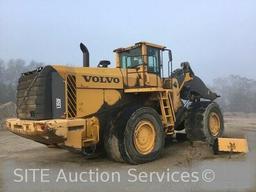
[[[213,145],[215,154],[218,152],[247,153],[248,143],[246,139],[238,138],[217,138]]]

